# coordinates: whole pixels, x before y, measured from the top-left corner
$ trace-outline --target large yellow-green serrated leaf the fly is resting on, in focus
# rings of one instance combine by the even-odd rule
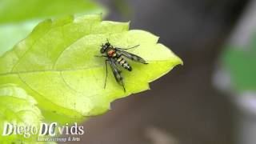
[[[148,65],[130,62],[122,70],[126,93],[109,69],[106,89],[105,58],[97,58],[100,45],[113,46],[145,58]],[[15,83],[37,101],[49,121],[74,122],[106,112],[110,102],[149,90],[148,82],[166,74],[182,60],[158,37],[143,30],[129,30],[127,22],[101,21],[100,15],[66,17],[40,23],[28,38],[0,58],[0,84]]]

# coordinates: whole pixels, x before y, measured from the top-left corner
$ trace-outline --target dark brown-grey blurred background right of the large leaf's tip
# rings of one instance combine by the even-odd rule
[[[106,18],[131,21],[178,54],[177,66],[151,90],[112,103],[108,113],[84,124],[81,143],[233,144],[228,96],[213,86],[214,67],[249,1],[101,0]],[[123,7],[123,6],[126,7]]]

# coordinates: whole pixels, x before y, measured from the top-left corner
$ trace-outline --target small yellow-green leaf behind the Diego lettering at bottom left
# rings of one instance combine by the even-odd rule
[[[26,94],[25,90],[13,84],[0,86],[0,143],[34,143],[36,135],[11,134],[2,136],[4,124],[10,123],[13,126],[35,126],[42,122],[42,114],[37,102],[33,97]]]

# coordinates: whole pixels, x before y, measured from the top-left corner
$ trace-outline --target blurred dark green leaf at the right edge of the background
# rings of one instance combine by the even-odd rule
[[[232,88],[238,91],[256,90],[256,36],[246,47],[227,46],[222,62],[230,72]]]

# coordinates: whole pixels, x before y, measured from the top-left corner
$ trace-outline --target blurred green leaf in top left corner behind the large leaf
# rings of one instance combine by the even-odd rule
[[[106,9],[91,0],[0,0],[0,55],[45,18],[66,14],[106,14]]]

